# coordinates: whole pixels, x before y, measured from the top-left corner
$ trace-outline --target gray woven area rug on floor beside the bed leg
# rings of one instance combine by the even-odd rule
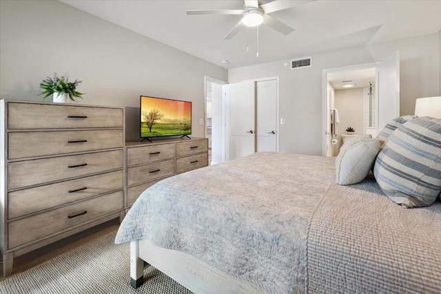
[[[153,266],[144,284],[130,286],[130,244],[114,244],[116,231],[14,275],[0,283],[0,293],[152,293],[191,294]]]

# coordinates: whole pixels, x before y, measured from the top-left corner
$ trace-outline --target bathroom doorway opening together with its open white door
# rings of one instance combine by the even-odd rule
[[[376,63],[322,70],[322,96],[323,156],[336,156],[352,136],[374,138],[400,116],[400,52]]]

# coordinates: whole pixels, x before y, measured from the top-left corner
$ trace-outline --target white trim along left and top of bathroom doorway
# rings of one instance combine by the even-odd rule
[[[327,91],[327,75],[331,72],[347,72],[348,70],[364,70],[365,68],[376,67],[380,61],[373,63],[362,63],[358,65],[349,65],[342,67],[326,68],[322,70],[322,156],[326,156],[327,152],[327,132],[329,121],[329,101],[328,101],[328,91]],[[377,119],[377,118],[376,118]]]

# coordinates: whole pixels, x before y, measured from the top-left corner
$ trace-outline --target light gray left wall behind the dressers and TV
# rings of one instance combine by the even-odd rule
[[[204,76],[228,72],[59,1],[0,1],[0,98],[42,101],[45,76],[83,83],[81,104],[126,107],[126,138],[139,140],[139,96],[192,101],[204,136]],[[50,99],[48,99],[50,101]]]

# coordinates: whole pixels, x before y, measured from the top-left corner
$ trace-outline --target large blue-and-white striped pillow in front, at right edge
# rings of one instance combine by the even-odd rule
[[[422,117],[389,136],[373,168],[378,185],[403,207],[424,207],[441,192],[441,119]]]

